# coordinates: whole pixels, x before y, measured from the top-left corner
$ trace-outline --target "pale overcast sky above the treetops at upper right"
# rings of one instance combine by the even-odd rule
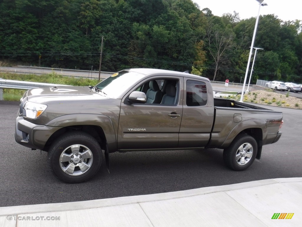
[[[209,8],[216,16],[224,13],[239,13],[240,19],[257,17],[259,3],[256,0],[192,0],[200,9]],[[302,21],[301,0],[265,0],[267,6],[262,6],[260,15],[275,14],[283,21]]]

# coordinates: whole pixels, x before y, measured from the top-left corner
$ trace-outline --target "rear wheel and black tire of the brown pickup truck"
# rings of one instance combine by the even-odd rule
[[[230,169],[242,171],[252,165],[257,150],[257,142],[253,137],[239,134],[230,146],[223,150],[223,161]]]

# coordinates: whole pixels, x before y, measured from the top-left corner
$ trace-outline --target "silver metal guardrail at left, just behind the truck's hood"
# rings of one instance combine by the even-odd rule
[[[71,86],[71,85],[46,84],[46,83],[38,83],[38,82],[13,81],[13,80],[0,79],[0,100],[3,100],[3,88],[28,90],[28,89],[32,89],[32,88],[55,87],[55,86]]]

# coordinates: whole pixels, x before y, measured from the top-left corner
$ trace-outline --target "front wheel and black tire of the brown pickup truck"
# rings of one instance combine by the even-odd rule
[[[53,173],[60,180],[80,183],[98,172],[102,156],[101,146],[95,138],[87,133],[74,131],[53,141],[47,159]]]

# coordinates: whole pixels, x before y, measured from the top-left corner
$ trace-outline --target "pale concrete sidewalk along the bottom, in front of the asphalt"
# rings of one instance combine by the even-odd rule
[[[280,219],[272,219],[275,213]],[[301,221],[302,177],[144,196],[0,207],[0,225],[5,227],[293,227],[301,226]]]

